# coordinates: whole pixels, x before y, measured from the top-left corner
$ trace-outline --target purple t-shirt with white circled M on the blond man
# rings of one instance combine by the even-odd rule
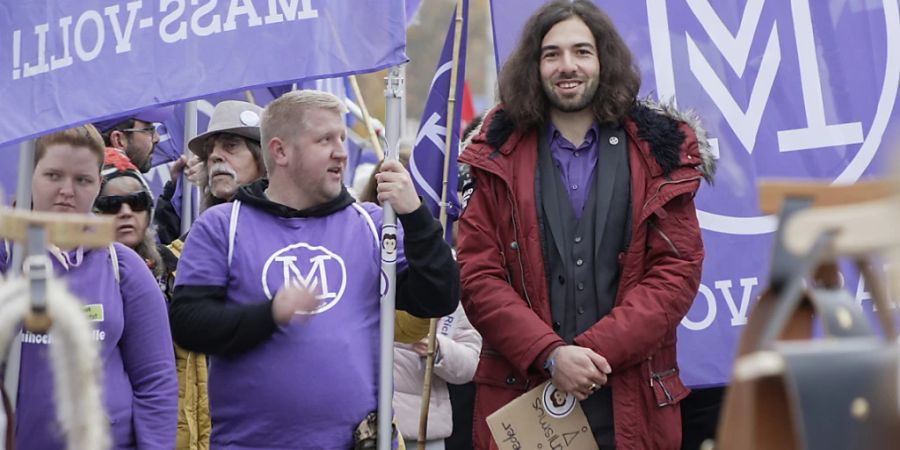
[[[247,305],[271,300],[289,281],[313,289],[323,305],[246,353],[210,358],[211,445],[350,448],[353,430],[377,409],[381,257],[373,227],[380,230],[382,210],[364,203],[287,218],[241,203],[229,263],[232,208],[214,206],[194,223],[175,285],[225,286],[227,304]],[[397,242],[400,271],[399,225]]]

